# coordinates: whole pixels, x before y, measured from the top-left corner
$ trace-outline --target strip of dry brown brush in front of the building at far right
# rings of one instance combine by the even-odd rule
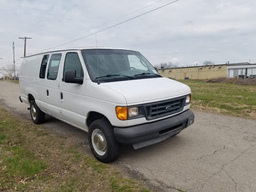
[[[256,85],[256,78],[227,78],[227,77],[219,77],[206,79],[205,82],[210,83],[230,83],[230,84],[239,84],[239,85]]]

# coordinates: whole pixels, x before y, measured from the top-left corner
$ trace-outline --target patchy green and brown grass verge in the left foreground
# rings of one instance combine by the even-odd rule
[[[49,134],[1,106],[0,154],[0,191],[150,191],[145,178],[132,180],[99,162],[88,145]]]

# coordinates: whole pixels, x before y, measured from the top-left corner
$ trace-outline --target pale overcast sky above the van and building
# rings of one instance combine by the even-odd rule
[[[0,60],[0,68],[13,61],[12,41],[15,42],[15,60],[23,56],[24,41],[19,37],[32,37],[27,40],[28,55],[100,31],[172,1],[1,0],[0,58],[3,60]],[[145,6],[148,7],[141,9]],[[205,60],[215,64],[249,60],[256,63],[255,7],[255,0],[179,0],[97,33],[98,46],[139,51],[152,65],[168,61],[178,66],[202,65]],[[124,15],[127,16],[122,17]],[[115,21],[110,22],[112,20]],[[95,45],[93,35],[61,47]],[[20,60],[16,65],[20,65]]]

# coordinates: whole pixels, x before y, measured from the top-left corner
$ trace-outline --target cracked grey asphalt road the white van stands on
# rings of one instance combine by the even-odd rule
[[[0,103],[26,119],[19,84],[0,82]],[[195,124],[160,143],[133,149],[121,146],[114,163],[143,175],[153,191],[256,191],[256,120],[195,112]],[[87,133],[50,116],[44,126],[56,134],[87,142]]]

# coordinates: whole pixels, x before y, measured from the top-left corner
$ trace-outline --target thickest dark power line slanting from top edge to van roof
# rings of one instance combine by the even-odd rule
[[[147,14],[147,13],[153,12],[153,11],[155,11],[155,10],[157,10],[157,9],[160,9],[160,8],[162,8],[162,7],[164,7],[164,6],[167,6],[167,5],[169,5],[169,4],[175,3],[175,2],[177,2],[177,1],[179,1],[179,0],[172,1],[171,3],[165,4],[165,5],[161,6],[161,7],[157,7],[156,9],[153,9],[153,10],[150,10],[150,11],[148,11],[148,12],[142,13],[142,14],[140,14],[140,15],[136,16],[136,17],[133,17],[133,18],[128,19],[128,20],[125,20],[125,21],[123,21],[123,22],[117,23],[117,24],[115,24],[115,25],[112,25],[112,26],[110,26],[110,27],[108,27],[108,28],[105,28],[105,29],[102,29],[102,30],[100,30],[100,31],[97,31],[97,32],[95,32],[95,33],[100,33],[100,32],[102,32],[102,31],[105,31],[105,30],[109,29],[109,28],[116,27],[117,25],[123,24],[123,23],[125,23],[125,22],[127,22],[127,21],[133,20],[133,19],[135,19],[135,18],[138,18],[138,17],[140,17],[140,16],[142,16],[142,15],[145,15],[145,14]],[[69,42],[64,43],[64,44],[60,44],[60,45],[57,45],[57,46],[54,46],[54,47],[51,47],[51,48],[48,48],[48,49],[42,50],[42,51],[40,51],[40,52],[47,51],[47,50],[49,50],[49,49],[53,49],[53,48],[56,48],[56,47],[59,47],[59,46],[65,45],[65,44],[72,43],[72,42],[74,42],[74,41],[77,41],[77,40],[83,39],[83,38],[85,38],[85,37],[92,36],[92,35],[94,35],[95,33],[92,33],[92,34],[87,35],[87,36],[80,37],[80,38],[78,38],[78,39],[75,39],[75,40],[69,41]],[[36,53],[37,53],[37,52],[36,52]],[[34,53],[31,53],[31,54],[34,54]]]

